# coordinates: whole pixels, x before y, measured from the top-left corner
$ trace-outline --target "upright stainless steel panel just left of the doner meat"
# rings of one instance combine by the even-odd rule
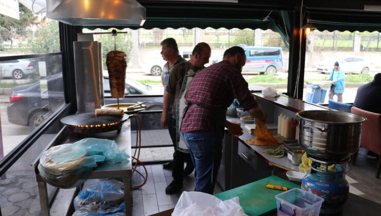
[[[78,113],[100,108],[98,42],[74,42]]]

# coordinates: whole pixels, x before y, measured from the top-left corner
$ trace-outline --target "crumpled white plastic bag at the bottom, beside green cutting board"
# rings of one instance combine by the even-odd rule
[[[184,191],[177,202],[172,216],[244,216],[238,196],[222,201],[217,197],[196,191]]]

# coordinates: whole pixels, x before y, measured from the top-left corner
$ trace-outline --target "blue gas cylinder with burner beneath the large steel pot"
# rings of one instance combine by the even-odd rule
[[[302,189],[314,193],[324,199],[320,212],[336,214],[341,212],[342,205],[348,200],[349,184],[343,177],[343,168],[336,165],[336,170],[323,171],[317,168],[320,163],[311,164],[311,173],[304,176]]]

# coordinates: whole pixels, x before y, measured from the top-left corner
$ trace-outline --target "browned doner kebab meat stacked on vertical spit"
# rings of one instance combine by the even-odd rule
[[[117,50],[110,51],[107,53],[106,65],[109,71],[111,97],[124,98],[127,68],[126,53]]]

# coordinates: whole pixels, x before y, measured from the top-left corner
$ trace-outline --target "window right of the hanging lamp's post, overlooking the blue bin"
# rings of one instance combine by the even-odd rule
[[[353,103],[358,87],[371,82],[374,75],[381,71],[380,40],[380,33],[376,31],[311,32],[306,38],[304,82],[307,84],[303,90],[303,100],[328,104],[332,83],[327,79],[333,73],[332,81],[335,81],[337,92],[332,94],[333,100],[338,101],[342,97],[343,103]],[[344,79],[335,72],[336,61]],[[336,86],[342,84],[345,88],[337,91]]]

